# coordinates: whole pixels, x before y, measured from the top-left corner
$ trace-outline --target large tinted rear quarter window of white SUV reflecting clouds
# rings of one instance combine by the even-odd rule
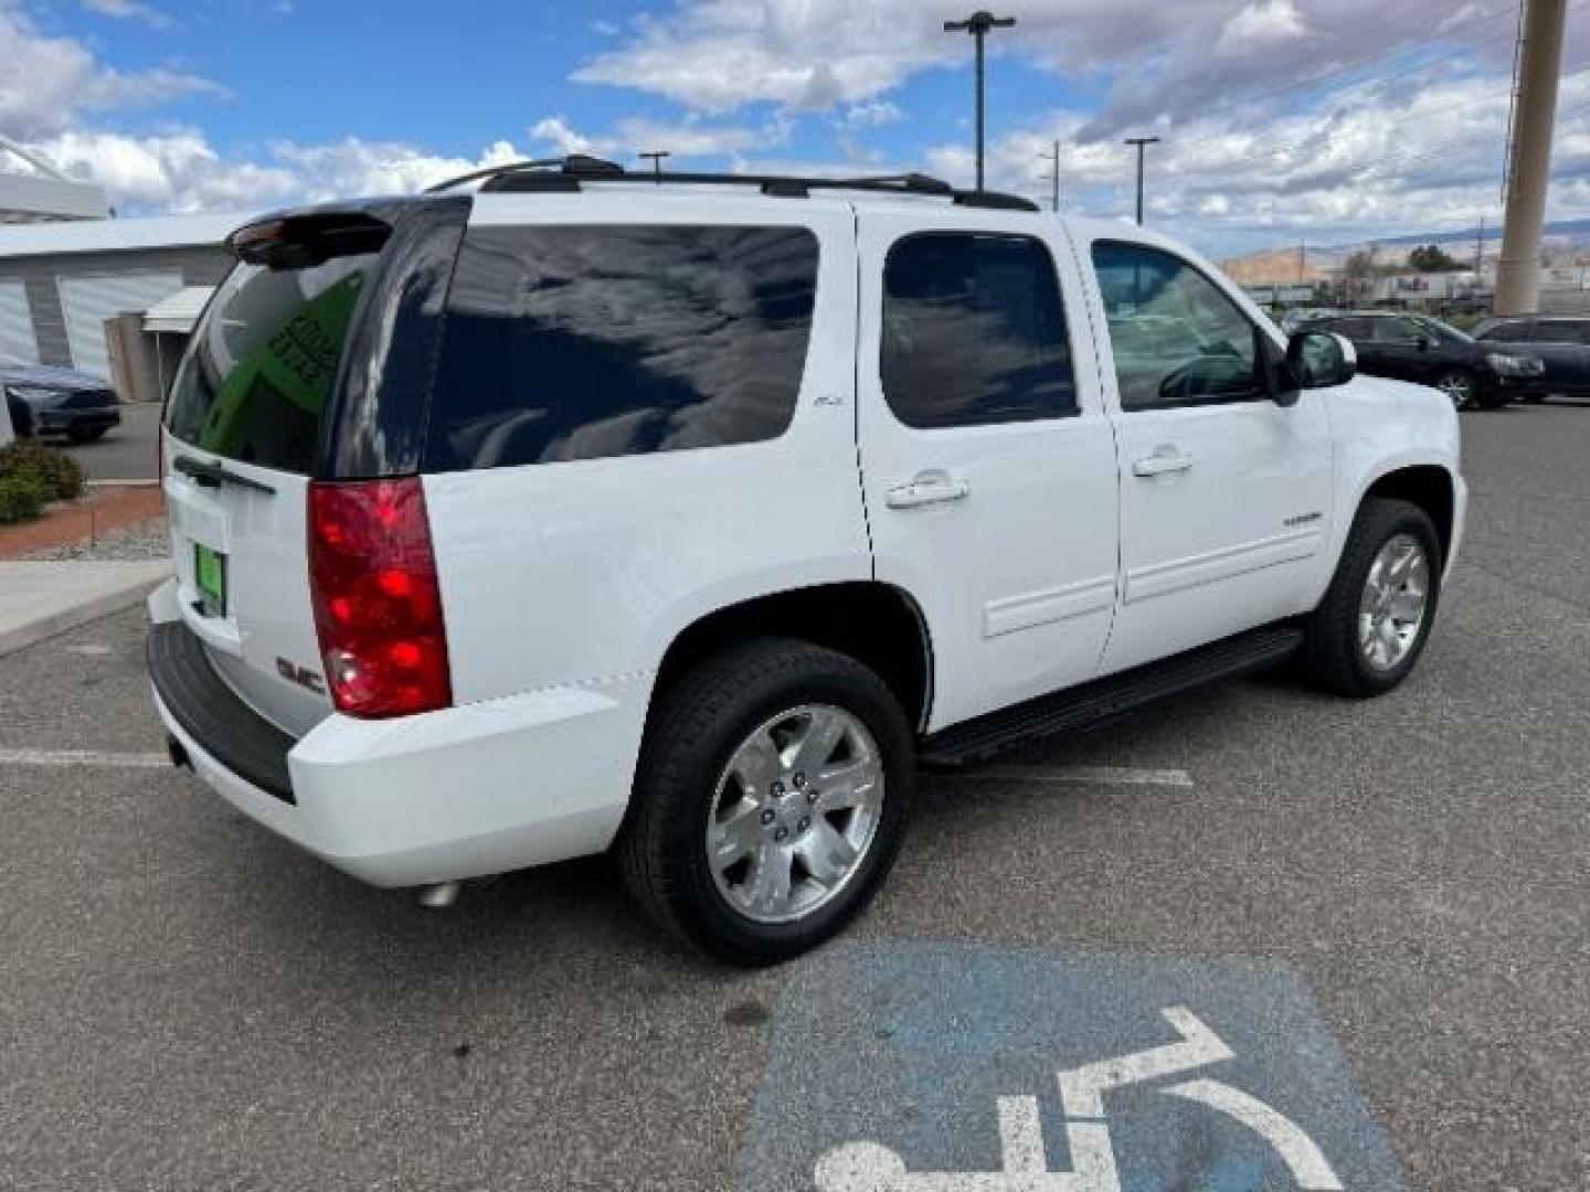
[[[800,227],[480,227],[464,238],[426,467],[776,439],[800,396]]]

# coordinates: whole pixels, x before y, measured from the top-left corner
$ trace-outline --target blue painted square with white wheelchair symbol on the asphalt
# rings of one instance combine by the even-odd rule
[[[1286,965],[830,949],[785,985],[747,1192],[1401,1189]]]

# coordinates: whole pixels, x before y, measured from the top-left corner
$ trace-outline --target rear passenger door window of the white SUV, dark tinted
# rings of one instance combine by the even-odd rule
[[[884,265],[882,385],[906,426],[1076,413],[1054,259],[1024,235],[924,232]]]

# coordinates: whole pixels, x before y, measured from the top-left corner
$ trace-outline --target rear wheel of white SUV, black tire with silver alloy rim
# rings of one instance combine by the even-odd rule
[[[733,647],[660,693],[615,846],[661,927],[736,965],[840,931],[905,836],[911,728],[884,682],[809,642]]]

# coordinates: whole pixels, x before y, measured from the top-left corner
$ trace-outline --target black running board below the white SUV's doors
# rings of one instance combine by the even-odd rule
[[[1288,625],[1226,637],[1173,658],[951,725],[922,741],[917,760],[929,769],[973,766],[1006,749],[1110,720],[1215,679],[1261,671],[1285,660],[1299,645],[1302,629]]]

